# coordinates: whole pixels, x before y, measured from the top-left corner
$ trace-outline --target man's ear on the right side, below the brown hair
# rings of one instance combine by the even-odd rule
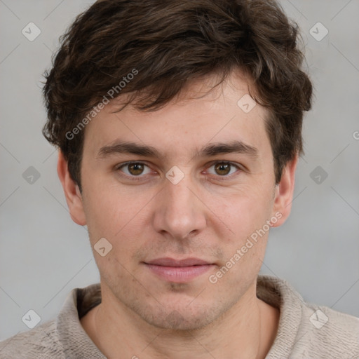
[[[278,218],[278,221],[272,224],[273,227],[281,226],[290,215],[297,163],[298,155],[285,165],[280,182],[276,185],[272,215]]]

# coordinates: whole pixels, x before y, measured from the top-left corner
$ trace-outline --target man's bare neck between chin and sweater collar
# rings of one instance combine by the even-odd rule
[[[109,359],[262,359],[276,337],[279,311],[256,297],[255,284],[221,318],[186,331],[150,325],[102,285],[102,303],[81,324]]]

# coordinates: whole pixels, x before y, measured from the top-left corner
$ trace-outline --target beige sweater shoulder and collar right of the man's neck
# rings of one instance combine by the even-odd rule
[[[257,283],[257,295],[280,309],[266,359],[359,359],[359,318],[305,302],[286,280],[260,276]]]

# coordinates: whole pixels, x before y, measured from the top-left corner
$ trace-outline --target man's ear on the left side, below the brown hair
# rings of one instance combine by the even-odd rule
[[[57,175],[59,176],[62,188],[64,189],[67,206],[69,207],[69,213],[72,220],[80,226],[86,225],[82,195],[79,186],[76,182],[74,182],[69,174],[67,161],[65,160],[61,150],[59,150],[57,160]]]

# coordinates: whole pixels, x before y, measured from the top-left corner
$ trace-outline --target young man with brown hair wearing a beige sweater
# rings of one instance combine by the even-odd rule
[[[359,320],[259,276],[312,86],[274,1],[102,0],[43,93],[101,283],[0,358],[359,358]]]

